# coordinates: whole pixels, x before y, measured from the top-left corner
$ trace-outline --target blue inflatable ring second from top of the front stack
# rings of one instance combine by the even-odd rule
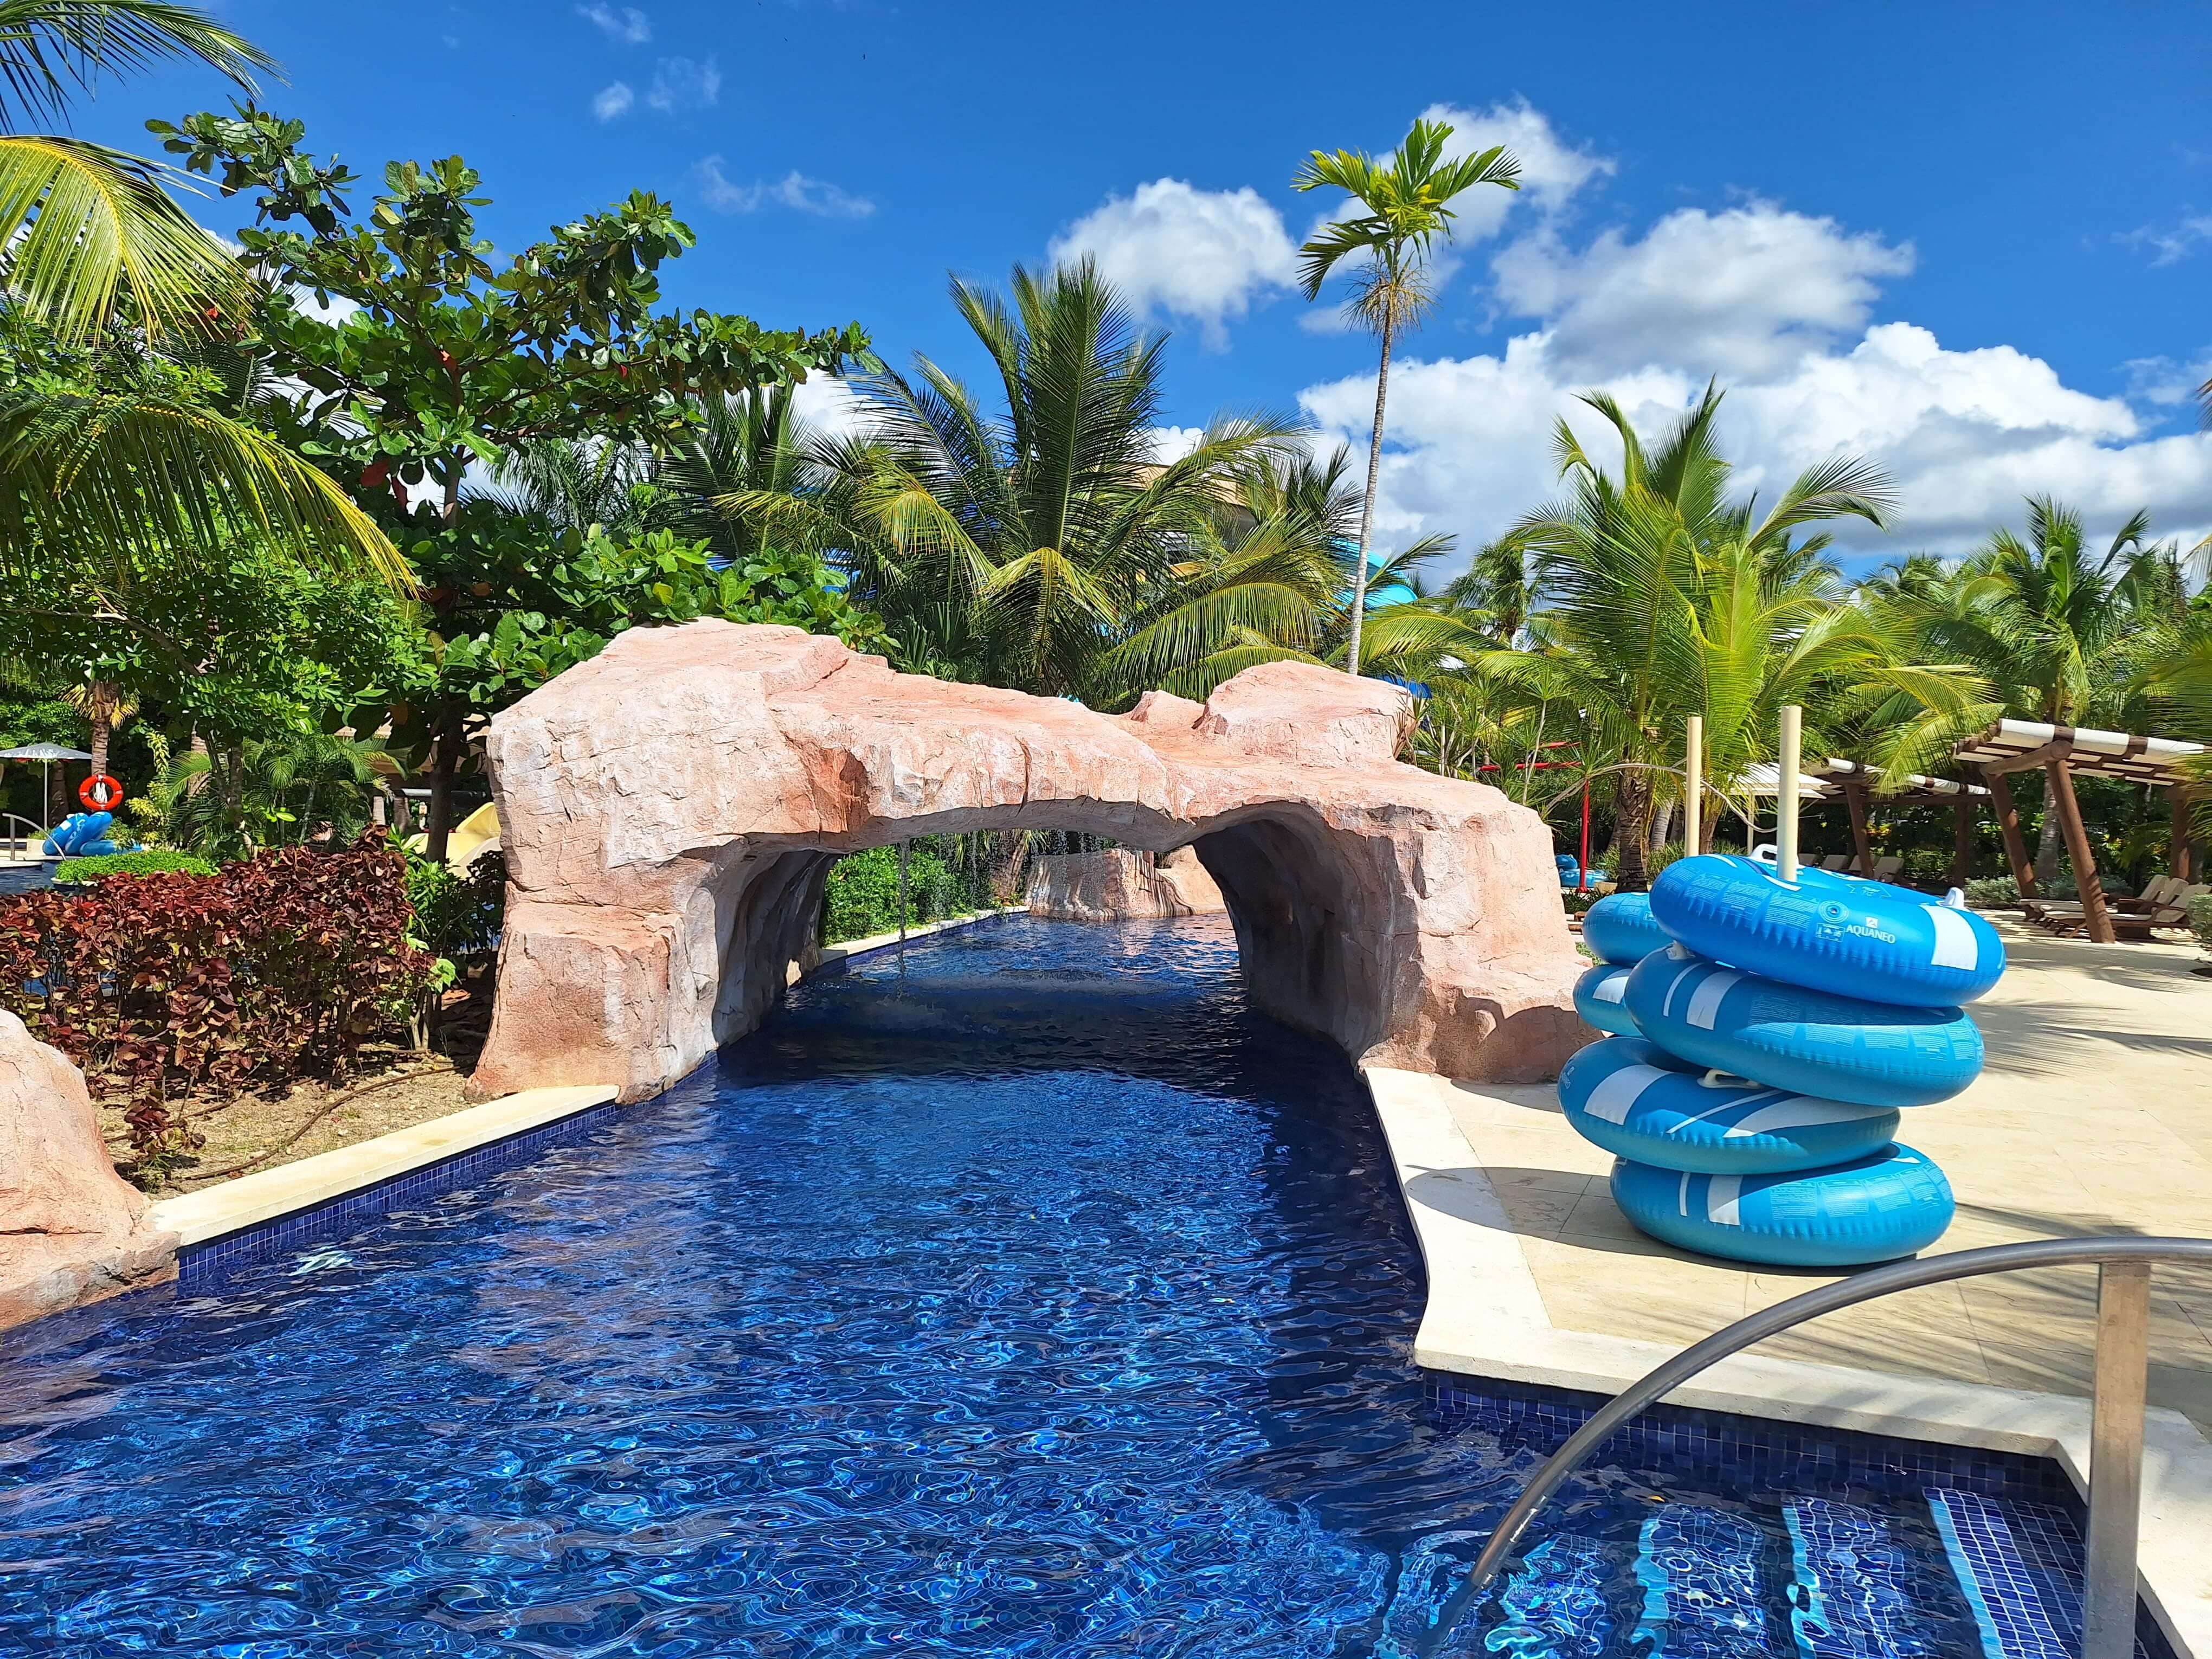
[[[1681,947],[1632,967],[1624,1002],[1670,1055],[1854,1106],[1929,1106],[1982,1071],[1982,1033],[1958,1009],[1807,991]]]

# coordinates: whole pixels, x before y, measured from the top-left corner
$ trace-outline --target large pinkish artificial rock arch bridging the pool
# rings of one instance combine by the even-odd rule
[[[478,1095],[653,1095],[752,1031],[830,865],[918,834],[1194,847],[1256,1006],[1354,1060],[1537,1082],[1588,1040],[1551,834],[1394,757],[1396,686],[1250,668],[1124,717],[796,628],[635,628],[491,723],[509,896]]]

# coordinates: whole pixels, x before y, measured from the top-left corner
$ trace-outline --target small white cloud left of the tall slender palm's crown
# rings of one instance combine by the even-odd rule
[[[1287,288],[1298,250],[1259,190],[1199,190],[1181,179],[1108,197],[1053,239],[1055,263],[1091,254],[1135,305],[1188,316],[1206,343],[1228,343],[1225,323],[1252,301]]]

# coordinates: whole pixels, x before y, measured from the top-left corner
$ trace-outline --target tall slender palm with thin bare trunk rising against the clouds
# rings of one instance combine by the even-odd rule
[[[1416,327],[1436,303],[1429,283],[1429,250],[1442,234],[1451,239],[1453,197],[1478,184],[1520,190],[1520,161],[1493,144],[1480,155],[1444,161],[1444,122],[1413,122],[1413,131],[1376,161],[1365,150],[1314,150],[1298,177],[1298,190],[1343,190],[1365,212],[1336,219],[1298,250],[1298,283],[1312,301],[1329,272],[1345,259],[1360,259],[1352,314],[1383,341],[1376,365],[1376,420],[1367,438],[1367,493],[1360,498],[1358,562],[1352,568],[1352,639],[1345,670],[1360,672],[1360,622],[1367,608],[1367,531],[1374,520],[1376,487],[1383,476],[1383,405],[1389,396],[1391,343]]]

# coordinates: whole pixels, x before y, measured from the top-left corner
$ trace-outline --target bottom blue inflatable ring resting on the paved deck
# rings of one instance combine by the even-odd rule
[[[1683,1175],[1621,1159],[1613,1201],[1661,1243],[1776,1267],[1858,1267],[1942,1239],[1955,1208],[1933,1159],[1885,1146],[1803,1175]]]

